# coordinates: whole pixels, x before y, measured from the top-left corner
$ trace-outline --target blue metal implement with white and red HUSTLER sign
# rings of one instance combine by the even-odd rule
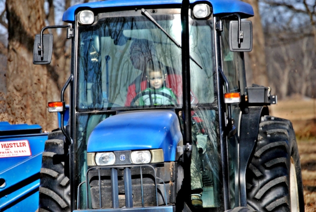
[[[0,211],[35,212],[47,133],[39,125],[0,122]],[[21,134],[22,133],[22,134]]]

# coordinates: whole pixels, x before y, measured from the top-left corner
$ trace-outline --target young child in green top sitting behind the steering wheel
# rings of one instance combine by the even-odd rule
[[[177,98],[170,88],[165,87],[167,74],[162,63],[150,63],[147,67],[146,79],[149,87],[142,91],[139,99],[140,106],[148,105],[177,105]],[[151,97],[150,97],[151,95]]]

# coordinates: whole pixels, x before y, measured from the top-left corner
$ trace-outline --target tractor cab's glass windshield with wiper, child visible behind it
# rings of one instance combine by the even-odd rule
[[[180,9],[148,12],[181,45]],[[212,18],[189,21],[191,104],[211,105]],[[77,70],[78,111],[182,106],[181,48],[140,10],[101,13],[80,25]]]

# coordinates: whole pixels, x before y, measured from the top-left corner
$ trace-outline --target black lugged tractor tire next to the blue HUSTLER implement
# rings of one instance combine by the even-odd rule
[[[59,132],[55,134],[60,135]],[[60,138],[53,136],[56,137]],[[64,141],[53,138],[46,140],[42,155],[39,212],[70,212],[70,180],[64,173]]]

